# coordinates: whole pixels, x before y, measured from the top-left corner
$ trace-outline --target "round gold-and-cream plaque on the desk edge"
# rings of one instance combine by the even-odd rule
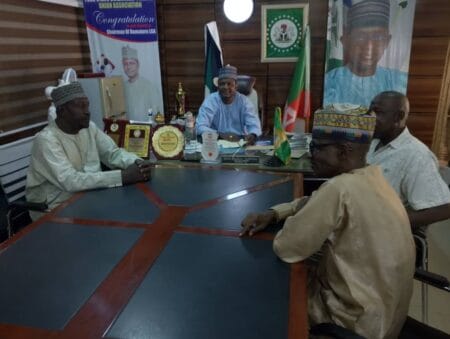
[[[152,148],[158,159],[181,159],[184,135],[175,125],[158,126],[153,132]]]

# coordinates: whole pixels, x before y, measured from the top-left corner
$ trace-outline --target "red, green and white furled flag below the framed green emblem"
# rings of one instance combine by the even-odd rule
[[[310,102],[310,41],[309,26],[306,27],[300,46],[300,54],[295,66],[294,76],[284,106],[283,126],[287,132],[293,132],[297,118],[309,118]]]

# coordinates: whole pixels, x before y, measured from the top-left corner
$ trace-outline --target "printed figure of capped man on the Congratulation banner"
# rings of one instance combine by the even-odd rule
[[[149,80],[139,75],[139,58],[136,49],[122,47],[122,65],[128,79],[125,81],[125,97],[127,99],[127,117],[130,120],[146,121],[148,110],[155,113],[162,109],[160,92]]]

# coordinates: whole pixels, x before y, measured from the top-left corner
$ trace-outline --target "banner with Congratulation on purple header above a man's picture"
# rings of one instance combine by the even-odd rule
[[[124,79],[127,117],[163,112],[156,0],[84,0],[94,72]]]

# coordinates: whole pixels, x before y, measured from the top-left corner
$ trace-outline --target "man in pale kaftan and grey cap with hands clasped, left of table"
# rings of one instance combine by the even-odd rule
[[[27,201],[53,209],[74,192],[150,179],[149,162],[118,148],[90,121],[89,100],[78,82],[55,88],[51,96],[57,117],[34,140]],[[113,170],[102,171],[100,162]]]

